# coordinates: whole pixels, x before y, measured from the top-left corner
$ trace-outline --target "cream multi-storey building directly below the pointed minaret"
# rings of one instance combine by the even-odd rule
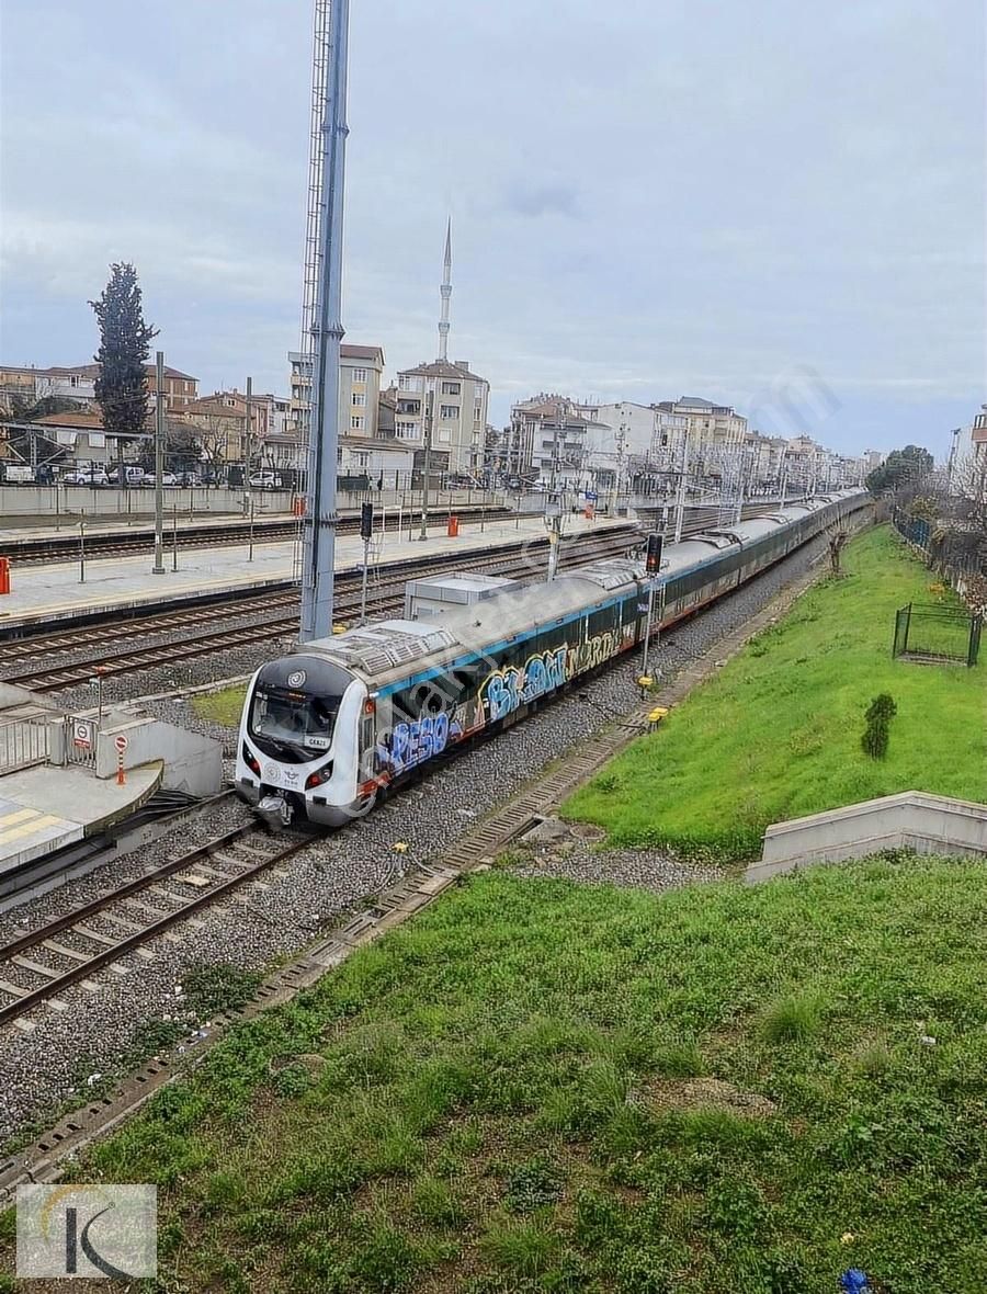
[[[395,435],[414,449],[427,439],[449,454],[449,471],[476,475],[486,449],[490,383],[470,370],[467,360],[435,360],[397,374]]]

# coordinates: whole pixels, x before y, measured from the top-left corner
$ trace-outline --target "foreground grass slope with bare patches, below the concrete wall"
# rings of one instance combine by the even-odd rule
[[[162,1291],[974,1294],[984,929],[973,862],[493,871],[74,1172],[159,1184]]]

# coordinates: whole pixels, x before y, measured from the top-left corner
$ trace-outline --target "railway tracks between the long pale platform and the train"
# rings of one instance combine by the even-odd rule
[[[633,529],[609,531],[598,536],[581,537],[573,543],[563,547],[560,554],[560,568],[581,565],[589,560],[602,556],[614,556],[624,553],[633,540]],[[546,540],[538,540],[538,549],[546,547]],[[457,562],[457,569],[497,572],[501,575],[526,575],[529,572],[526,554],[530,551],[529,542],[501,549],[493,554],[483,554]],[[385,568],[395,572],[396,577],[373,584],[367,594],[367,611],[374,616],[388,615],[404,607],[405,582],[409,578],[427,575],[436,567],[446,564],[448,559],[433,556],[427,560],[410,560],[397,564],[396,568]],[[344,576],[339,580],[339,600],[336,615],[345,622],[360,611],[360,577],[356,575]],[[150,669],[163,663],[189,660],[197,656],[207,656],[213,651],[226,651],[230,647],[244,647],[252,643],[276,638],[279,634],[294,633],[298,628],[299,599],[296,593],[278,594],[274,598],[277,607],[283,608],[283,613],[274,616],[265,615],[265,619],[254,625],[215,628],[222,619],[239,619],[255,611],[266,613],[272,609],[272,598],[256,598],[256,606],[247,609],[243,603],[230,603],[222,607],[203,609],[189,608],[184,612],[166,613],[163,616],[142,617],[141,621],[127,621],[123,625],[107,625],[102,628],[101,641],[105,646],[96,655],[87,655],[84,660],[72,661],[65,665],[52,665],[47,669],[32,668],[27,673],[16,673],[19,660],[36,661],[45,653],[57,655],[75,650],[85,650],[93,644],[93,630],[84,629],[74,633],[62,633],[44,639],[28,639],[14,642],[0,648],[0,673],[3,681],[27,687],[35,692],[56,692],[66,687],[74,687],[88,682],[98,669],[103,675],[136,673],[141,669]],[[208,615],[207,615],[208,612]],[[207,633],[202,633],[206,622]],[[150,637],[157,633],[181,630],[194,626],[197,633],[186,639],[168,642],[164,644],[138,647],[132,644],[113,651],[114,643],[122,639],[132,639],[136,635]],[[9,666],[14,666],[14,673],[8,673]]]

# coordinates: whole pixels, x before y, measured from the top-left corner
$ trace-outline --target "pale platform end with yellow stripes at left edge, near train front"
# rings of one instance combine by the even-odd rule
[[[25,863],[133,814],[160,785],[163,767],[155,761],[131,769],[123,787],[81,767],[41,765],[0,778],[0,883]]]

